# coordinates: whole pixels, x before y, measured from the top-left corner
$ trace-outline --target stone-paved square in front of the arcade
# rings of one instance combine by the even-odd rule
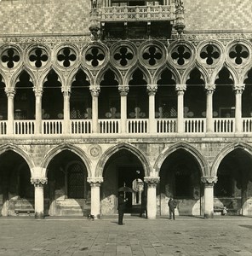
[[[252,255],[252,218],[1,217],[0,255]]]

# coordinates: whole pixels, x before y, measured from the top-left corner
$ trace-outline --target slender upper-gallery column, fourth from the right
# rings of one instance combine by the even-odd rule
[[[157,84],[147,85],[149,93],[149,133],[155,133],[157,131],[155,124],[155,94],[158,90]]]

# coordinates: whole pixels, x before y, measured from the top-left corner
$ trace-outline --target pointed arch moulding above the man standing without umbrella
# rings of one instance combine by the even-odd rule
[[[182,142],[175,143],[173,146],[171,146],[169,148],[165,148],[163,150],[163,152],[158,156],[158,159],[156,160],[153,169],[159,173],[161,166],[163,165],[163,161],[166,160],[166,158],[169,156],[169,154],[172,154],[173,152],[175,152],[178,149],[184,149],[188,153],[192,154],[193,157],[198,161],[198,164],[200,166],[201,175],[208,176],[208,173],[209,173],[208,163],[204,159],[203,155],[200,154],[198,149],[192,147],[190,144],[182,143]]]

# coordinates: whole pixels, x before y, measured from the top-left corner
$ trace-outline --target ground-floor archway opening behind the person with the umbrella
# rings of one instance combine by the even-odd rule
[[[118,189],[129,187],[133,192],[125,192],[128,198],[126,213],[140,214],[141,195],[146,193],[144,168],[139,158],[127,149],[121,149],[107,160],[104,167],[101,196],[101,214],[117,213]]]

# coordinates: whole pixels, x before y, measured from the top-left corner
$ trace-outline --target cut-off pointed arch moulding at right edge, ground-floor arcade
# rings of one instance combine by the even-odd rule
[[[215,160],[213,161],[213,164],[210,169],[210,176],[217,176],[221,160],[223,160],[227,154],[229,154],[230,152],[237,148],[241,148],[252,155],[252,146],[250,146],[247,143],[232,143],[230,145],[227,145],[225,148],[221,149],[221,152],[219,154],[216,155]]]

